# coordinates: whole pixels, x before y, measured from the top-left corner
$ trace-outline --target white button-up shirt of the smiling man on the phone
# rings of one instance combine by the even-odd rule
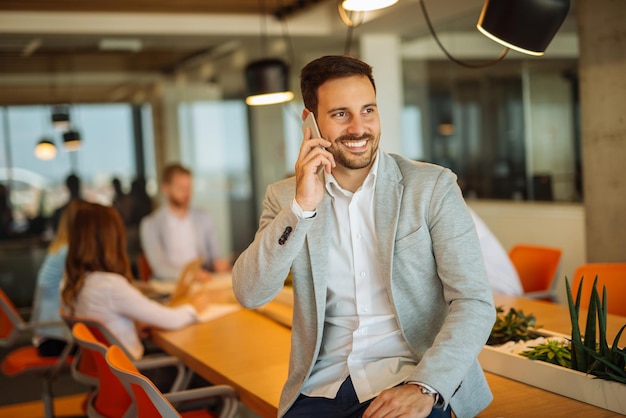
[[[334,398],[352,379],[359,402],[402,383],[416,365],[385,289],[376,250],[374,189],[378,158],[363,185],[351,193],[332,175],[328,289],[322,347],[302,393]],[[393,227],[390,225],[390,227]]]

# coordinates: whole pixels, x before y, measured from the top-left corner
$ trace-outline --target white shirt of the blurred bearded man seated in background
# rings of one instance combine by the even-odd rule
[[[167,210],[167,231],[168,239],[164,241],[164,246],[170,264],[182,269],[188,262],[200,257],[196,231],[189,214],[180,218]]]

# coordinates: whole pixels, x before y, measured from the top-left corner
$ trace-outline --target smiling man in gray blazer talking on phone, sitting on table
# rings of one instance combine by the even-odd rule
[[[293,277],[286,417],[471,417],[492,399],[476,358],[495,309],[472,218],[448,169],[378,149],[372,68],[326,56],[301,73],[295,177],[268,187],[233,269],[254,308]]]

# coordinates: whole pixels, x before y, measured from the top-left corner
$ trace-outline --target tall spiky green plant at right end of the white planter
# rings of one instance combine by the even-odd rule
[[[580,332],[580,300],[583,280],[580,281],[576,300],[572,297],[567,277],[567,303],[572,322],[572,368],[589,373],[601,379],[626,383],[626,349],[619,348],[619,341],[626,324],[622,326],[613,344],[609,346],[606,339],[606,321],[608,315],[606,288],[602,290],[602,299],[598,294],[596,276],[591,288],[584,337]],[[597,340],[596,340],[597,337]]]

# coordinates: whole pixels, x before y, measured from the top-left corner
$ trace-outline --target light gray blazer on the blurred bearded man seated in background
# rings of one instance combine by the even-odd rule
[[[205,212],[194,208],[189,209],[189,216],[196,232],[198,254],[203,258],[203,266],[211,270],[213,260],[218,257],[211,218]],[[165,206],[141,220],[139,225],[141,249],[157,279],[176,279],[180,273],[180,268],[170,264],[165,256],[167,234],[167,209]]]

